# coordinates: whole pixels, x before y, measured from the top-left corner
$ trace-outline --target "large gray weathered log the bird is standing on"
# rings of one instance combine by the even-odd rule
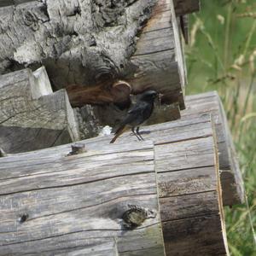
[[[58,148],[0,159],[0,198],[3,198],[2,205],[6,207],[3,218],[9,216],[10,219],[10,221],[2,221],[3,231],[10,231],[11,234],[12,230],[15,230],[16,224],[11,220],[20,212],[27,212],[32,216],[31,223],[28,218],[24,226],[26,227],[27,224],[29,230],[37,236],[40,236],[40,230],[44,229],[39,221],[47,222],[51,219],[55,227],[45,231],[45,236],[48,236],[47,232],[58,234],[64,225],[62,221],[59,223],[58,216],[61,216],[63,221],[67,219],[67,222],[72,221],[71,214],[74,214],[74,219],[84,220],[79,212],[83,212],[81,213],[83,216],[84,214],[95,216],[95,212],[101,212],[101,216],[108,216],[108,209],[113,209],[112,198],[119,198],[118,202],[121,205],[125,200],[130,204],[132,200],[143,205],[145,200],[152,206],[153,202],[148,201],[152,201],[150,191],[156,184],[150,179],[150,175],[156,171],[166,255],[178,253],[190,255],[191,252],[201,255],[228,253],[218,154],[215,149],[216,139],[213,136],[212,120],[209,115],[203,114],[193,119],[184,118],[174,122],[144,126],[141,131],[145,142],[137,142],[137,138],[127,132],[113,145],[109,144],[112,136],[83,141],[87,150],[84,154],[67,157],[71,148],[62,145]],[[154,154],[150,141],[154,142]],[[120,175],[120,172],[124,172],[125,177]],[[108,186],[106,184],[103,186],[102,182],[106,179]],[[132,185],[127,184],[129,180]],[[146,189],[148,186],[151,190]],[[108,190],[108,188],[112,189]],[[90,189],[93,189],[93,195]],[[80,195],[82,191],[84,196]],[[143,200],[139,201],[138,195],[140,198],[143,197]],[[40,199],[40,207],[37,204],[38,199]],[[106,204],[100,211],[98,209],[102,201],[106,201]],[[19,207],[10,208],[10,202]],[[53,205],[55,207],[52,207]],[[79,206],[77,211],[70,211],[76,206]],[[110,212],[114,214],[113,211]],[[111,221],[113,224],[113,218]],[[153,219],[147,221],[154,222]],[[79,237],[79,245],[82,244],[83,247],[84,239],[80,236],[87,233],[87,225],[89,224],[86,221],[79,225],[73,224],[71,229],[85,230],[75,232],[75,235],[61,236],[66,245],[62,249],[61,244],[55,242],[60,237],[55,237],[55,240],[49,244],[49,250],[62,250],[61,253],[64,253],[65,248],[69,248],[70,242],[77,239],[75,237]],[[111,231],[108,230],[107,237],[116,237],[110,233]],[[10,236],[9,233],[3,234]],[[18,234],[21,238],[26,236],[24,233]],[[140,233],[140,236],[142,234],[144,233]],[[119,234],[119,237],[123,235]],[[91,231],[91,236],[100,238],[102,233],[99,235],[97,231]],[[72,241],[70,237],[73,237]],[[124,255],[125,253],[132,255],[130,248],[137,244],[135,242],[137,236],[132,237],[134,240],[129,236],[122,243],[125,244],[125,249],[122,251]],[[9,239],[15,238],[9,237]],[[154,241],[155,238],[150,238],[150,241],[151,239]],[[18,250],[18,247],[11,244],[12,241],[9,242],[3,247],[4,249],[11,247],[13,250]],[[45,250],[42,240],[21,242],[21,245],[26,247],[28,253],[33,252],[35,247],[42,253]],[[149,255],[154,254],[157,255],[154,250],[149,253]]]

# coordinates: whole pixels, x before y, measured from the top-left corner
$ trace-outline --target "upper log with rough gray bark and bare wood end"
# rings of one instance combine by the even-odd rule
[[[43,63],[55,90],[74,84],[67,90],[73,107],[126,102],[128,94],[120,97],[113,84],[127,79],[133,93],[162,91],[166,103],[183,108],[186,78],[172,0],[160,0],[149,20],[157,2],[58,0],[1,8],[0,73]],[[154,30],[163,20],[167,26]]]

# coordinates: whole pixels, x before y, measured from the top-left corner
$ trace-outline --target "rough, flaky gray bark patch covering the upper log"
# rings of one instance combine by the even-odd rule
[[[46,0],[0,9],[0,72],[44,64],[55,89],[124,76],[156,0]]]

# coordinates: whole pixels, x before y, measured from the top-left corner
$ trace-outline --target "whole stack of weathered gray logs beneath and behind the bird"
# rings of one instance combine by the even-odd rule
[[[183,96],[182,41],[199,2],[117,1],[112,11],[97,2],[0,3],[0,16],[15,14],[12,26],[0,24],[0,255],[229,254],[224,206],[244,192],[224,108],[217,92]],[[77,26],[86,4],[98,8],[88,49],[86,27]],[[26,38],[19,33],[3,50],[19,31]],[[113,31],[125,59],[114,53]],[[138,32],[131,49],[136,40],[123,40]],[[46,34],[38,52],[35,40]],[[144,141],[129,132],[114,144],[113,135],[90,137],[91,127],[119,122],[130,93],[147,89],[165,96],[141,129]],[[79,141],[81,127],[90,138]]]

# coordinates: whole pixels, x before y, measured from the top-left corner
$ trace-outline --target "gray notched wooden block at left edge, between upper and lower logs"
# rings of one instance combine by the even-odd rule
[[[44,67],[0,76],[0,145],[6,153],[79,139],[65,90],[53,93]]]

